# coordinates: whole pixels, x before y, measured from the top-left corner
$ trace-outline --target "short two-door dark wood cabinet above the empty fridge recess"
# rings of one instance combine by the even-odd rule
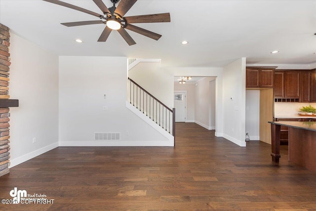
[[[275,68],[246,68],[246,88],[273,88]]]

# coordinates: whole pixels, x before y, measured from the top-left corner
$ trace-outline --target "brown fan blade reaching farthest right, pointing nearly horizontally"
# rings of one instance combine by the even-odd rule
[[[136,15],[124,17],[127,23],[161,23],[170,22],[170,13]]]

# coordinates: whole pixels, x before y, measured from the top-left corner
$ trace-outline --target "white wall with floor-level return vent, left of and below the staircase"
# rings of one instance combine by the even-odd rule
[[[170,144],[165,136],[126,108],[126,84],[126,57],[60,56],[60,146]],[[172,91],[173,83],[169,92]],[[108,110],[103,111],[103,106]],[[94,141],[95,132],[119,132],[120,140]]]

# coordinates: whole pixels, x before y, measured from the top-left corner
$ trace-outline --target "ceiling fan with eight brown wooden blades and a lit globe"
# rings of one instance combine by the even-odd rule
[[[98,42],[106,42],[112,30],[117,30],[118,33],[123,37],[123,39],[129,44],[133,45],[136,42],[131,38],[125,29],[131,30],[138,34],[144,35],[146,37],[152,38],[154,40],[159,40],[161,35],[148,31],[146,29],[132,25],[131,23],[160,23],[160,22],[170,22],[169,13],[160,13],[160,14],[150,14],[150,15],[136,15],[124,17],[126,12],[134,5],[137,0],[111,0],[113,6],[108,8],[102,0],[93,0],[94,3],[102,10],[103,15],[96,12],[84,9],[82,7],[66,3],[60,0],[44,0],[51,3],[55,3],[61,6],[65,6],[71,9],[75,9],[81,12],[85,12],[90,15],[94,15],[101,20],[93,21],[79,21],[79,22],[69,22],[61,23],[64,26],[82,26],[90,24],[106,24],[105,29],[103,30],[101,36],[99,37]],[[119,2],[120,1],[120,2]],[[119,3],[118,3],[119,2]],[[115,5],[118,3],[118,7]]]

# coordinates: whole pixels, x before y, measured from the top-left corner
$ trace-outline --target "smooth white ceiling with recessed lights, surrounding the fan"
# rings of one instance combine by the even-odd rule
[[[102,13],[92,0],[65,1]],[[164,67],[223,67],[240,57],[247,64],[316,63],[316,0],[138,0],[125,16],[165,12],[170,23],[135,24],[162,35],[158,41],[127,30],[137,43],[129,46],[116,31],[97,42],[102,24],[60,24],[95,16],[42,0],[0,0],[1,24],[57,55],[160,58]]]

